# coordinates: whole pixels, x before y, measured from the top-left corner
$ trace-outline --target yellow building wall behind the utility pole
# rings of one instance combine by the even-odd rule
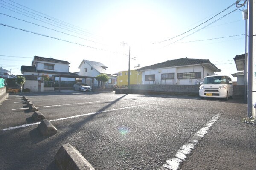
[[[130,85],[141,84],[142,72],[137,70],[130,70],[130,72]],[[119,87],[128,86],[128,71],[118,72],[117,85]]]

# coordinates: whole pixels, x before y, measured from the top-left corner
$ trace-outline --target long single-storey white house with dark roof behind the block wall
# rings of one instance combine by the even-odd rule
[[[208,59],[180,58],[140,69],[142,84],[191,85],[199,84],[205,76],[220,72]]]

